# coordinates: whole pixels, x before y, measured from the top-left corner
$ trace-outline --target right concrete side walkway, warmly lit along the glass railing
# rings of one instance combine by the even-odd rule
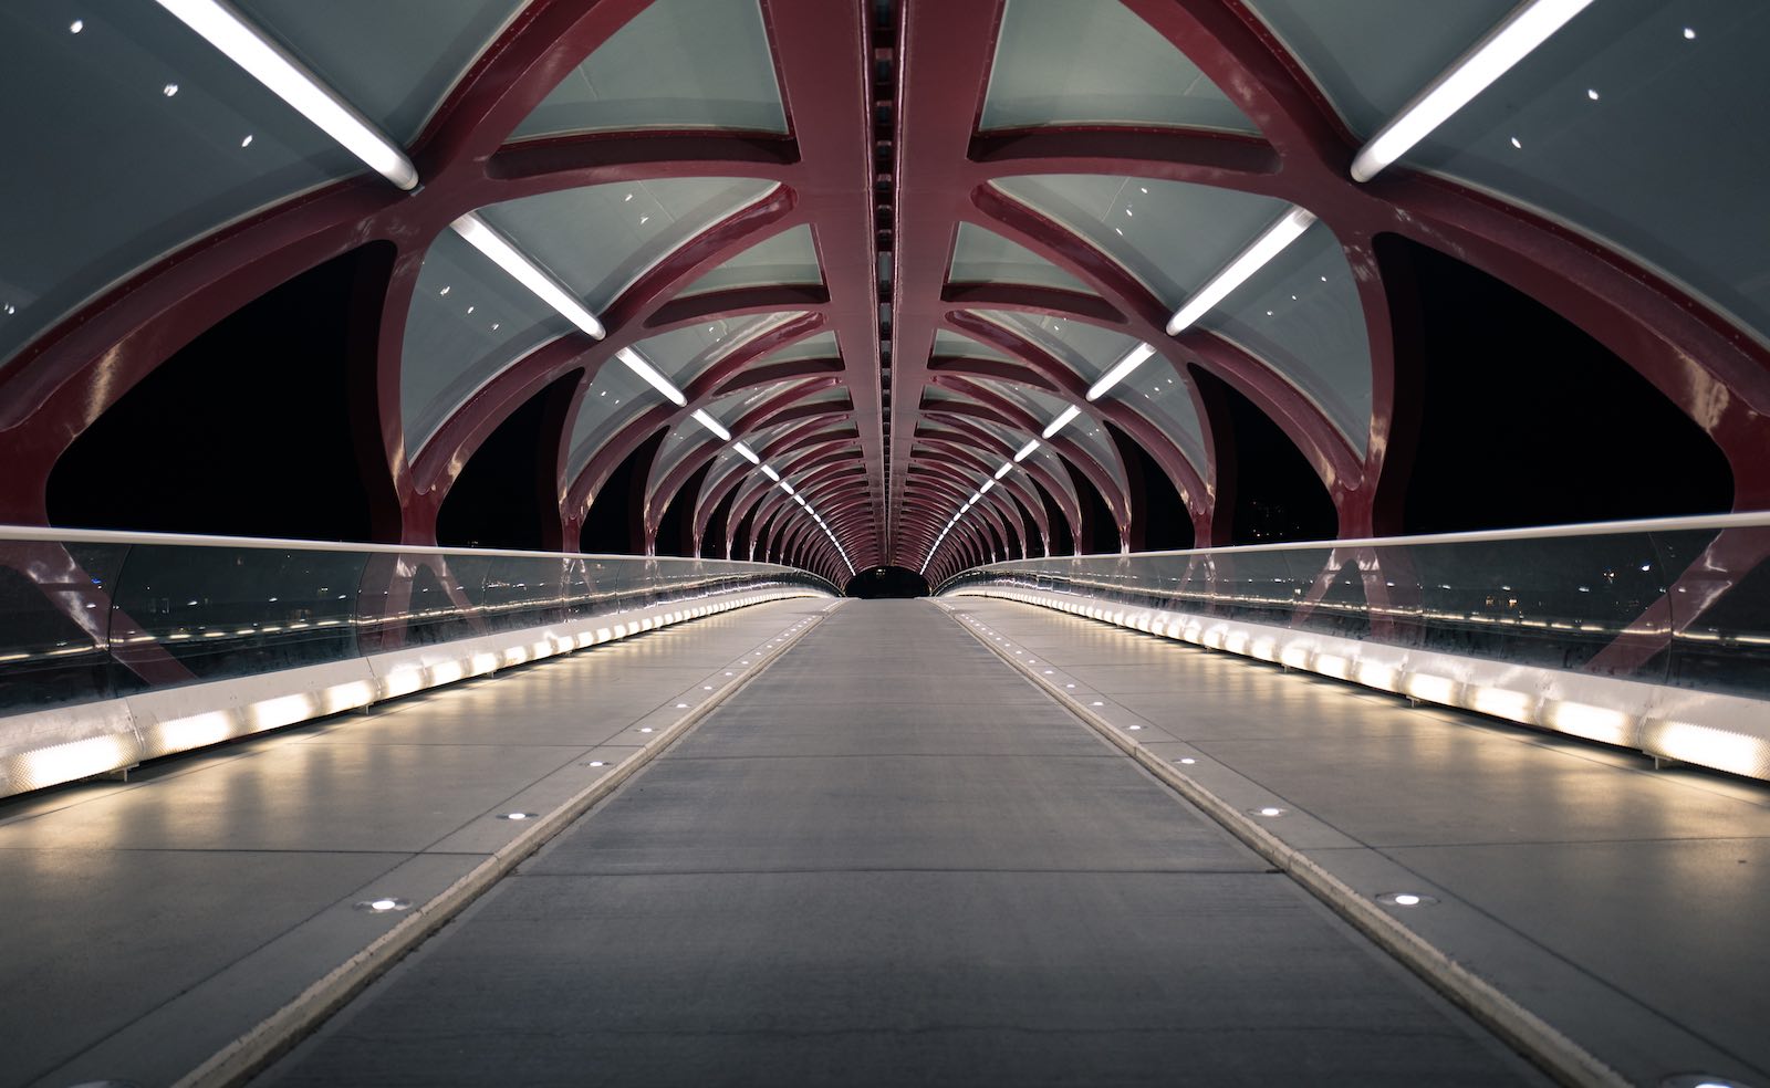
[[[1634,1084],[1770,1084],[1770,789],[1016,601],[952,616]]]

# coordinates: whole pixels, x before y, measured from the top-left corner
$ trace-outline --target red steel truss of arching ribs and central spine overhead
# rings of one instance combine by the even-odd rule
[[[1168,476],[1195,540],[1228,540],[1234,471],[1227,458],[1234,449],[1218,437],[1227,409],[1186,366],[1175,372],[1202,423],[1202,465],[1133,409],[1089,403],[1083,377],[1030,340],[979,318],[979,310],[1108,327],[1212,375],[1296,444],[1333,497],[1342,536],[1382,534],[1398,524],[1421,396],[1414,333],[1395,315],[1407,310],[1407,274],[1379,255],[1374,239],[1382,234],[1455,255],[1584,329],[1715,441],[1731,464],[1738,508],[1770,506],[1770,458],[1763,456],[1770,449],[1770,356],[1758,341],[1650,269],[1490,196],[1400,168],[1370,184],[1352,182],[1347,168],[1358,140],[1239,0],[1099,2],[1122,2],[1172,42],[1253,120],[1258,136],[1110,126],[984,134],[979,117],[1002,0],[896,0],[890,25],[878,32],[871,0],[759,2],[788,117],[784,136],[632,131],[510,142],[561,78],[648,5],[533,0],[412,143],[419,189],[404,193],[373,175],[333,184],[184,246],[62,320],[0,370],[7,453],[0,518],[44,524],[57,458],[179,349],[276,285],[379,241],[391,244],[393,257],[359,285],[350,418],[368,451],[375,533],[388,541],[432,543],[442,499],[474,451],[513,410],[572,373],[577,384],[547,414],[559,449],[545,469],[559,497],[558,525],[547,533],[554,547],[575,547],[602,485],[653,435],[685,426],[696,409],[756,391],[763,396],[743,418],[724,423],[740,439],[768,435],[758,453],[795,478],[857,566],[927,564],[938,580],[986,557],[1044,554],[1053,520],[1080,540],[1090,506],[1037,458],[1004,478],[931,554],[952,513],[1012,456],[1018,442],[1004,435],[1034,437],[1046,423],[1002,396],[1002,386],[1074,403],[1087,423],[1112,423]],[[1266,361],[1204,329],[1168,336],[1168,311],[1142,281],[1080,234],[989,184],[1041,173],[1221,186],[1319,216],[1343,246],[1366,326],[1366,453]],[[421,449],[407,449],[400,352],[430,242],[455,218],[490,203],[674,177],[765,179],[779,188],[660,255],[600,315],[605,340],[572,334],[536,349],[462,403]],[[950,281],[961,223],[1030,249],[1094,294]],[[816,237],[821,287],[681,297],[706,271],[802,225]],[[802,317],[704,370],[685,389],[687,407],[660,402],[641,412],[568,474],[565,442],[582,391],[616,350],[696,322],[786,311]],[[881,327],[889,329],[889,357]],[[839,357],[766,361],[827,331],[837,334]],[[940,331],[1000,357],[936,361]],[[832,389],[846,400],[830,400]],[[1099,492],[1120,540],[1133,541],[1140,511],[1117,483],[1126,478],[1122,465],[1062,433],[1050,448]],[[696,448],[669,471],[643,476],[644,540],[655,543],[666,510],[694,485],[701,490],[689,504],[692,536],[703,554],[782,559],[844,578],[848,570],[823,533],[793,517],[791,499],[759,472],[703,472],[719,449]],[[713,513],[727,499],[729,531],[710,540]]]

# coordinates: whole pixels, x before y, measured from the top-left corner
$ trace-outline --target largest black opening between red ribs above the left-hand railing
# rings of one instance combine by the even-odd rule
[[[55,464],[50,524],[398,540],[398,501],[368,418],[393,257],[388,242],[335,257],[173,352]]]

